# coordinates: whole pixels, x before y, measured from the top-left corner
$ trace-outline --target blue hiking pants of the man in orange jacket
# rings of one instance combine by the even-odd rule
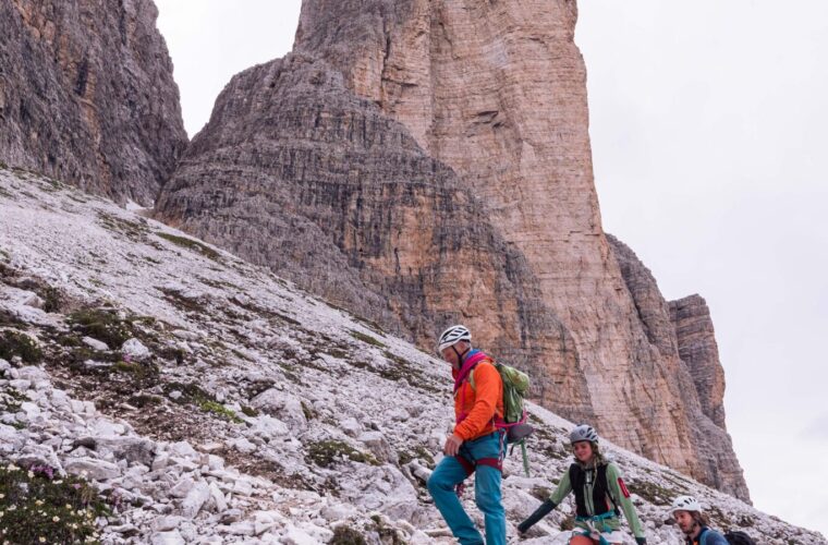
[[[464,456],[468,461],[499,458],[500,433],[464,443],[459,456]],[[463,465],[456,458],[447,456],[428,477],[428,492],[461,545],[483,545],[480,532],[463,510],[454,492],[454,487],[465,479]],[[474,472],[474,499],[483,511],[486,545],[506,545],[506,510],[500,501],[500,471],[488,465],[477,465]]]

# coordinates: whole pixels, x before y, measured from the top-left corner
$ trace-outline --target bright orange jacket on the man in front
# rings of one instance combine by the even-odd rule
[[[464,441],[495,432],[495,416],[503,417],[503,382],[494,362],[486,356],[472,371],[474,388],[464,380],[454,393],[454,433]],[[458,371],[452,374],[456,379]]]

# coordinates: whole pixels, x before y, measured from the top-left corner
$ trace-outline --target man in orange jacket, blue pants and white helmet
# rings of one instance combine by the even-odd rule
[[[437,350],[452,366],[456,424],[443,446],[446,457],[428,479],[428,492],[461,545],[483,545],[480,532],[454,492],[474,473],[474,499],[484,514],[485,543],[504,545],[506,510],[500,493],[504,434],[495,426],[495,421],[503,417],[500,373],[491,358],[472,349],[472,334],[464,326],[446,329]]]

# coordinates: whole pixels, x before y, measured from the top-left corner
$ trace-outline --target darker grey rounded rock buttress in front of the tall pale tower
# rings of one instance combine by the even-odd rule
[[[324,61],[290,55],[233,77],[157,213],[426,349],[463,322],[533,372],[538,399],[593,416],[574,342],[523,255]]]

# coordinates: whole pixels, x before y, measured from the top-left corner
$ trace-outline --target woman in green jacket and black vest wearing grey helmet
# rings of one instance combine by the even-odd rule
[[[607,461],[598,449],[598,434],[592,426],[582,424],[570,433],[575,463],[563,474],[558,487],[518,530],[523,534],[537,521],[549,514],[571,493],[575,493],[576,529],[570,545],[608,545],[623,543],[619,532],[619,507],[624,512],[635,543],[644,545],[638,514],[630,500],[630,493],[622,480],[621,470]]]

